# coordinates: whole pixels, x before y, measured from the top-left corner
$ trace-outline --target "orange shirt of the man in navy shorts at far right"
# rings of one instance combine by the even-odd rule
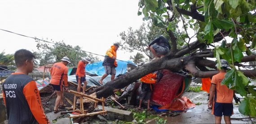
[[[216,85],[214,101],[217,103],[233,103],[234,90],[230,90],[227,86],[221,85],[225,74],[226,73],[218,73],[212,77],[212,84]]]

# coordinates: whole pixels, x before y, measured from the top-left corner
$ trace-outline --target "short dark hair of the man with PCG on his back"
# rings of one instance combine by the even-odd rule
[[[20,49],[14,53],[14,60],[17,67],[22,66],[26,60],[32,60],[35,55],[31,51]]]

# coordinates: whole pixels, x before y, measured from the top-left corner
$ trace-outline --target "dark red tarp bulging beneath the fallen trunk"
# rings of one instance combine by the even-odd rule
[[[163,70],[162,79],[154,84],[151,100],[161,106],[169,105],[179,94],[184,77],[169,70]]]

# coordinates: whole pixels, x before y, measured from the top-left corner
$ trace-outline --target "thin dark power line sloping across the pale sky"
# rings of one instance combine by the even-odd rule
[[[6,32],[9,32],[9,33],[13,33],[13,34],[17,34],[17,35],[20,35],[20,36],[23,36],[23,37],[27,37],[27,38],[33,38],[33,37],[30,37],[30,36],[26,36],[26,35],[23,35],[23,34],[18,34],[18,33],[9,31],[9,30],[4,30],[4,29],[0,29],[0,30],[6,31]],[[39,39],[39,38],[33,38],[33,39],[37,39],[37,40],[40,40],[40,41],[43,41],[43,42],[46,42],[46,43],[53,43],[53,42],[49,42],[49,41],[42,40],[42,39]],[[78,50],[78,51],[84,51],[84,50],[80,50],[80,49],[77,49],[77,48],[64,46],[64,45],[59,44],[59,43],[53,43],[53,44],[56,44],[56,45],[59,45],[59,46],[62,46],[62,47],[67,47],[67,48],[70,48],[70,49],[75,49],[75,50]],[[97,55],[97,56],[103,56],[103,55],[99,55],[99,54],[96,54],[96,53],[93,53],[93,52],[89,52],[89,51],[84,51],[84,52],[87,52],[87,53],[90,53],[90,54],[93,54],[93,55]],[[103,57],[106,57],[106,56],[103,56]],[[109,57],[109,56],[107,56],[107,57]],[[118,60],[118,59],[116,59],[116,60]],[[134,63],[127,62],[127,61],[124,61],[124,60],[119,60],[119,61],[123,61],[123,62],[126,62],[126,63],[134,64]]]

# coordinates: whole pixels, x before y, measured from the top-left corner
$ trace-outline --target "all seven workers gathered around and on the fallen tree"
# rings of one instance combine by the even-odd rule
[[[102,76],[102,79],[99,80],[99,83],[102,85],[103,79],[109,74],[111,75],[111,80],[114,80],[115,78],[115,68],[117,67],[116,51],[118,48],[119,44],[114,43],[114,45],[106,52],[106,56],[102,64],[106,73]],[[168,53],[170,45],[166,38],[159,36],[159,38],[154,39],[149,44],[148,49],[150,49],[154,55],[153,60],[157,60]],[[28,73],[32,73],[33,71],[34,59],[35,56],[31,51],[25,49],[16,51],[14,54],[14,60],[17,70],[2,84],[4,104],[6,106],[9,124],[49,124],[49,120],[44,114],[36,83],[28,76]],[[80,60],[76,71],[76,80],[78,83],[77,91],[80,92],[81,85],[84,83],[82,90],[83,94],[85,94],[87,85],[87,81],[85,79],[85,67],[90,62],[89,58]],[[61,62],[53,64],[50,70],[50,83],[57,93],[54,113],[58,112],[59,107],[66,107],[62,99],[64,91],[68,90],[68,68],[66,66],[69,63],[69,58],[63,57]],[[225,85],[221,85],[221,81],[225,78],[224,75],[228,69],[228,63],[225,60],[221,60],[221,65],[222,68],[219,69],[220,73],[212,77],[208,107],[213,108],[212,114],[215,115],[216,123],[221,122],[222,115],[224,115],[225,122],[230,123],[230,116],[233,112],[232,100],[234,91],[228,89]],[[141,78],[142,94],[140,95],[138,109],[141,109],[142,100],[146,99],[148,102],[147,110],[150,110],[150,98],[153,91],[152,84],[159,81],[159,78],[157,78],[156,75],[156,73],[150,73]]]

